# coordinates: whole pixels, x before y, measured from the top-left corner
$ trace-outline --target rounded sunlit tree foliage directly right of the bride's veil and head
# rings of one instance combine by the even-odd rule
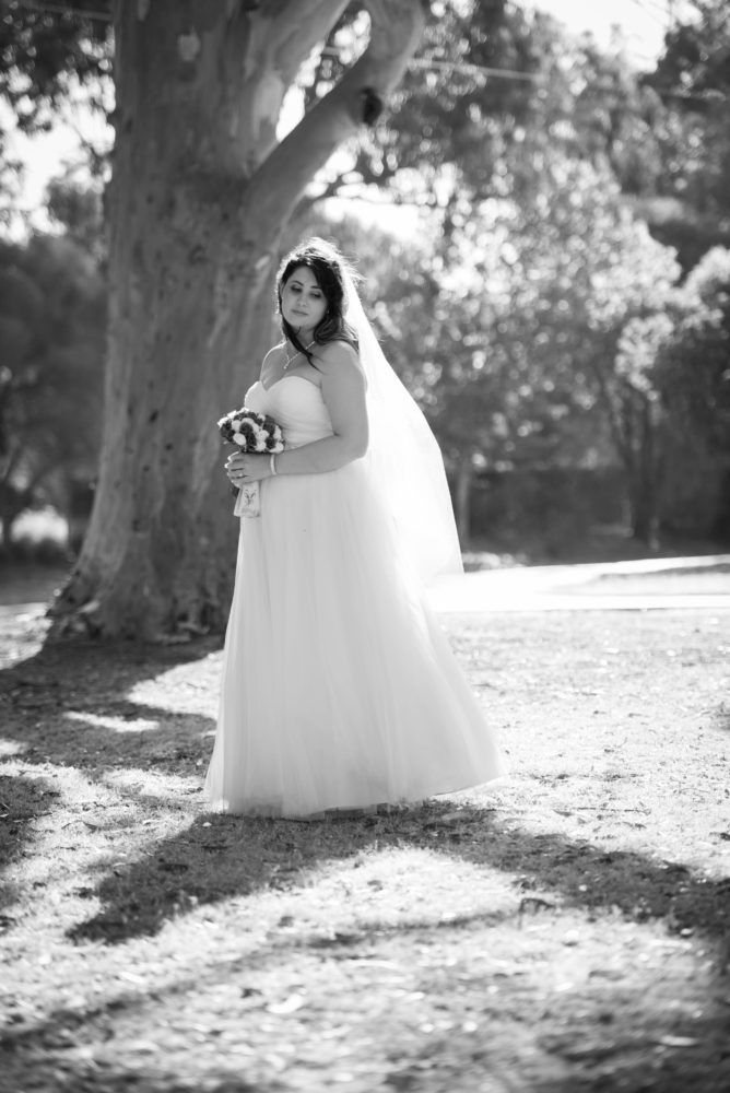
[[[647,436],[637,424],[657,406],[645,341],[668,334],[679,267],[605,173],[558,153],[538,162],[531,191],[519,165],[531,204],[474,204],[445,239],[388,240],[353,224],[335,234],[372,273],[386,352],[455,477],[596,467],[615,453],[636,498],[659,423],[651,409]],[[469,501],[457,501],[468,534]]]

